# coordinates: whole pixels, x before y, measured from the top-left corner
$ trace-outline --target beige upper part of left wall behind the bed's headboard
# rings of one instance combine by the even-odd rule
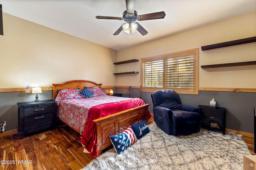
[[[51,87],[68,80],[116,84],[116,51],[3,13],[0,88]]]

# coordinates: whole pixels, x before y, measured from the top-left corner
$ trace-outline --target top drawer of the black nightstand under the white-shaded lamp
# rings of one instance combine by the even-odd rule
[[[34,115],[40,113],[47,113],[52,111],[52,104],[50,105],[38,105],[24,108],[24,116]]]

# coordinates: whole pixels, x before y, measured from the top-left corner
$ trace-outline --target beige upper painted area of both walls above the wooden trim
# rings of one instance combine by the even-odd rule
[[[113,75],[114,72],[140,72],[140,62],[117,66],[113,63],[194,48],[200,49],[200,66],[256,60],[256,43],[201,50],[204,45],[256,36],[256,12],[117,52],[9,14],[3,13],[3,21],[0,88],[47,87],[74,79],[91,80],[104,86],[140,86],[140,74]],[[255,88],[255,67],[199,68],[199,87]]]

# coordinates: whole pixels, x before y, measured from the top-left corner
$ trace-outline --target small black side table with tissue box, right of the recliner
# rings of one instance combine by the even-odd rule
[[[210,107],[198,106],[201,109],[201,127],[210,131],[222,132],[226,134],[226,108],[224,107]],[[216,127],[217,125],[217,127]]]

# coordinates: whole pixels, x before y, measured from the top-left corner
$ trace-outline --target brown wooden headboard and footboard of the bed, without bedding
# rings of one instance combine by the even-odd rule
[[[97,84],[88,80],[71,80],[62,84],[53,85],[53,98],[57,96],[57,91],[62,89],[76,89],[81,90],[86,87],[101,87],[102,84]],[[148,106],[144,104],[142,106],[134,107],[125,111],[114,113],[106,117],[93,120],[96,125],[96,138],[97,138],[97,149],[98,156],[101,151],[112,145],[110,136],[116,135],[124,131],[129,125],[138,123],[142,120],[149,120],[148,117]],[[80,133],[80,132],[78,132]]]

